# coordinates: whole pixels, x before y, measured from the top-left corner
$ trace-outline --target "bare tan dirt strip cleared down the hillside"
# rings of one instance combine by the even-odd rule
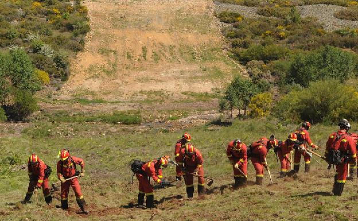
[[[211,92],[231,77],[213,3],[207,0],[85,1],[91,32],[60,97],[133,101],[143,91],[170,99],[182,91]]]

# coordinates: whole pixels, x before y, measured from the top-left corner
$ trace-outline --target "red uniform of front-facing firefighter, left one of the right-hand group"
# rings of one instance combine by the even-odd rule
[[[239,148],[234,147],[235,140],[232,140],[226,149],[226,155],[232,164],[234,171],[234,177],[247,177],[247,148],[244,143],[240,143]],[[244,173],[242,174],[238,169],[234,168],[234,165],[238,163],[239,169]]]

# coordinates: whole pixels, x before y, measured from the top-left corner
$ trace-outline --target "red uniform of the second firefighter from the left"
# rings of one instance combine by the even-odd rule
[[[68,157],[67,163],[59,160],[57,162],[57,177],[59,179],[60,177],[65,179],[73,177],[76,173],[76,164],[81,165],[81,169],[84,171],[84,161],[81,158],[70,156]],[[77,178],[61,183],[61,200],[67,200],[70,186],[76,195],[76,199],[81,200],[83,195]]]

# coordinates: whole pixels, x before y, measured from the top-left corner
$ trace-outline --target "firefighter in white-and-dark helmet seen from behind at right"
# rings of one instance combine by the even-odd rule
[[[349,121],[340,120],[338,126],[339,131],[332,133],[327,140],[325,156],[328,160],[334,150],[339,150],[341,156],[343,156],[341,164],[336,165],[336,175],[332,189],[334,195],[341,196],[347,179],[348,163],[352,166],[357,164],[357,148],[354,140],[348,134],[350,129]]]

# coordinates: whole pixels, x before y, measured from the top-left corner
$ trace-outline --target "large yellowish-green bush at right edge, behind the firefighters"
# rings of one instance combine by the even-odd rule
[[[358,120],[358,92],[337,80],[312,82],[309,87],[284,96],[275,106],[275,115],[295,122]]]

